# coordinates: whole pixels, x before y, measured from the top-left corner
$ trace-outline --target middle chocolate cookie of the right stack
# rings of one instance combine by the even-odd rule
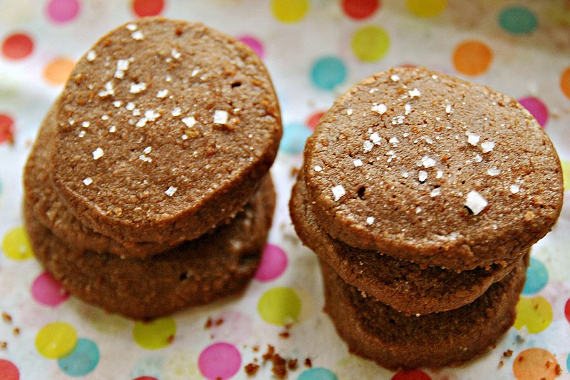
[[[367,297],[388,304],[405,314],[446,312],[475,301],[494,282],[501,281],[519,262],[516,259],[488,268],[454,271],[420,267],[413,262],[361,250],[334,240],[316,224],[308,210],[302,174],[293,187],[289,203],[295,230],[304,244],[330,265],[344,282]]]

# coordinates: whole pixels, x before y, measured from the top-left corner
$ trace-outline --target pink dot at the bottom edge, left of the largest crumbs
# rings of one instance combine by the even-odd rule
[[[242,366],[242,355],[229,343],[207,346],[198,358],[198,368],[207,379],[229,379]]]

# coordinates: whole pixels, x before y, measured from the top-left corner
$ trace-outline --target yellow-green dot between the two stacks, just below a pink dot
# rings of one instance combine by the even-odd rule
[[[274,287],[261,296],[257,312],[265,322],[284,326],[299,318],[301,299],[289,287]]]

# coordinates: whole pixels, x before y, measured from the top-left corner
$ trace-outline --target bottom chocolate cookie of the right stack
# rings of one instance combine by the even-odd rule
[[[491,349],[514,323],[527,260],[470,304],[406,316],[343,282],[321,261],[325,311],[353,354],[388,369],[455,366]]]

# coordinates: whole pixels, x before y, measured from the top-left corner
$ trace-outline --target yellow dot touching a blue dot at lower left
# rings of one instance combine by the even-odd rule
[[[76,343],[76,329],[65,322],[46,324],[36,335],[36,349],[48,359],[58,359],[69,354]]]

